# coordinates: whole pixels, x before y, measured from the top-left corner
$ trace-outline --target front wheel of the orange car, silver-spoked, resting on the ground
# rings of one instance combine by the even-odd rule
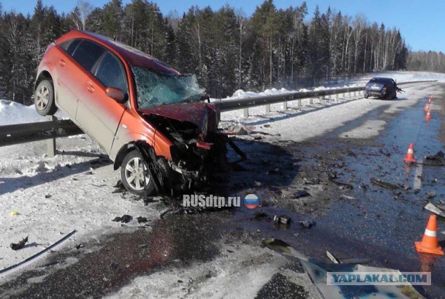
[[[144,182],[145,172],[145,182]],[[132,150],[127,153],[122,161],[120,168],[120,177],[122,184],[134,195],[144,196],[151,195],[154,191],[152,177],[149,175],[147,163],[143,161],[143,157],[138,150]],[[145,188],[147,186],[147,188]]]

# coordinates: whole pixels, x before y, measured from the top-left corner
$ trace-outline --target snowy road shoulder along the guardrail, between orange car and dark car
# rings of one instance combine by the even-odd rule
[[[303,141],[341,127],[343,124],[381,106],[389,105],[389,108],[384,112],[395,113],[403,108],[413,106],[421,97],[427,97],[429,93],[434,94],[436,90],[438,89],[435,86],[421,91],[416,90],[416,88],[407,88],[406,92],[399,95],[399,99],[396,101],[383,101],[373,98],[357,99],[355,101],[339,99],[303,106],[300,109],[288,109],[287,111],[282,111],[282,106],[275,104],[275,107],[274,105],[271,107],[273,112],[267,115],[262,114],[264,107],[252,108],[253,115],[249,118],[243,118],[241,111],[229,111],[221,116],[223,120],[221,126],[229,127],[231,124],[245,124],[257,127],[257,131],[270,134],[269,138],[272,140]],[[341,104],[342,102],[344,103]],[[289,104],[289,106],[292,106],[292,104]],[[263,125],[266,123],[268,126],[264,127]],[[359,127],[351,132],[350,136],[348,133],[344,135],[350,138],[354,136],[360,136],[361,138],[377,136],[379,131],[385,127],[385,123],[368,123],[361,127],[364,129]]]

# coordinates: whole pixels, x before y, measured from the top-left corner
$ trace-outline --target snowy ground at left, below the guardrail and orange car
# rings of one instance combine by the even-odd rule
[[[44,141],[0,147],[0,269],[31,257],[73,229],[76,234],[56,250],[118,232],[122,224],[111,221],[116,216],[133,216],[127,227],[138,225],[138,216],[159,217],[159,211],[133,197],[112,193],[120,174],[90,138],[61,138],[57,145],[60,154],[52,159],[44,156]],[[10,249],[10,243],[26,236],[29,245]]]

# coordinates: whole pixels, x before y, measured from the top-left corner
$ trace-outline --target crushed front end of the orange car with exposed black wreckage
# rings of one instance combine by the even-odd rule
[[[220,113],[211,104],[188,103],[158,106],[143,118],[167,137],[172,159],[156,158],[168,192],[194,190],[207,184],[214,172],[227,172],[229,138],[218,130]],[[230,142],[229,142],[230,143]],[[156,174],[155,174],[156,175]]]

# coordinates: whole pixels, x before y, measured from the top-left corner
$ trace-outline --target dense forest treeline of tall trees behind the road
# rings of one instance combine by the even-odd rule
[[[237,89],[297,88],[374,70],[437,67],[433,54],[409,57],[398,29],[307,4],[277,9],[266,0],[251,16],[223,6],[192,6],[163,15],[147,0],[111,0],[95,8],[79,1],[58,13],[38,0],[33,14],[1,11],[0,98],[29,103],[44,50],[71,29],[88,30],[159,58],[181,73],[197,74],[212,97]]]

